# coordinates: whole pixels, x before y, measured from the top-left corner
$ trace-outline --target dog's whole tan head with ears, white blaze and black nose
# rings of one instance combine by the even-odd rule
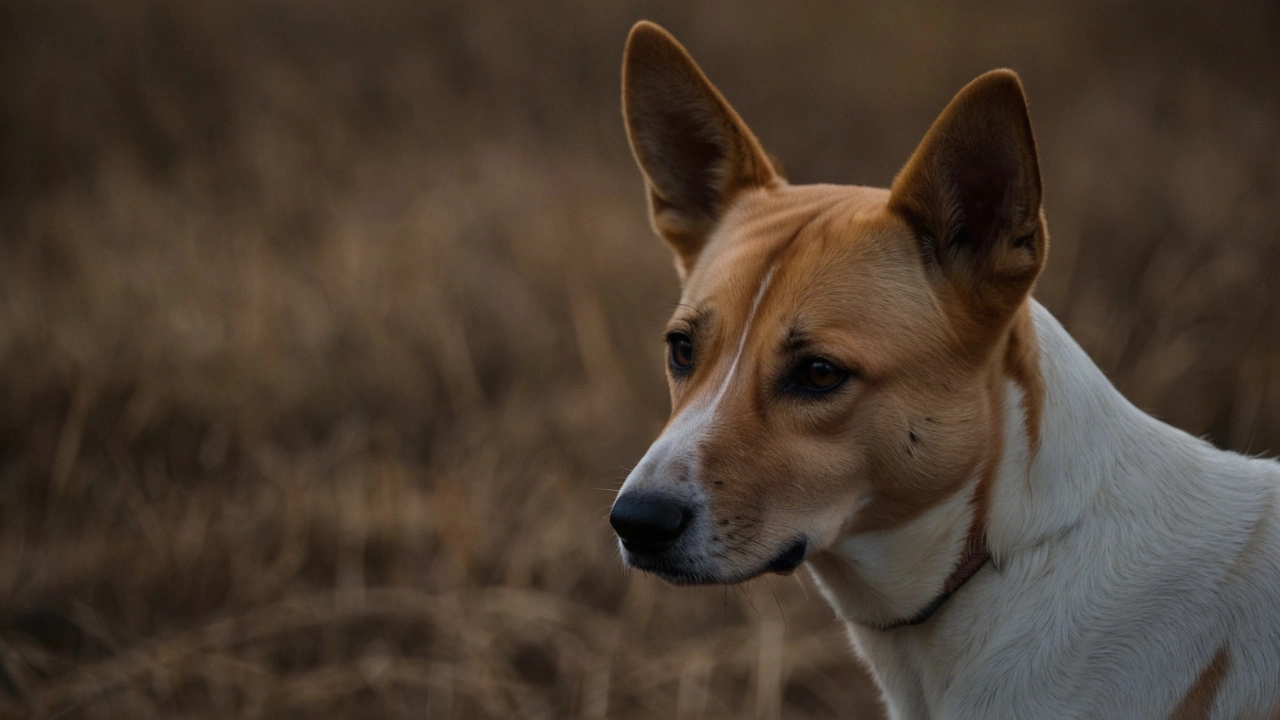
[[[626,561],[675,583],[790,571],[993,471],[1048,246],[1018,76],[961,90],[891,190],[788,184],[654,24],[622,100],[682,284],[671,419],[611,514]]]

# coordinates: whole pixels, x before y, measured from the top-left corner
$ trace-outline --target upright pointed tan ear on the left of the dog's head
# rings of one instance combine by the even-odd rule
[[[649,22],[627,37],[622,115],[653,227],[676,251],[684,281],[733,195],[781,177],[689,53]]]

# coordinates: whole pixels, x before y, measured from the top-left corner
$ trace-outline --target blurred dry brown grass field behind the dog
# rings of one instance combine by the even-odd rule
[[[618,117],[672,29],[794,182],[1021,73],[1037,291],[1139,406],[1280,441],[1268,1],[0,1],[0,714],[878,717],[801,573],[607,509],[677,299]]]

